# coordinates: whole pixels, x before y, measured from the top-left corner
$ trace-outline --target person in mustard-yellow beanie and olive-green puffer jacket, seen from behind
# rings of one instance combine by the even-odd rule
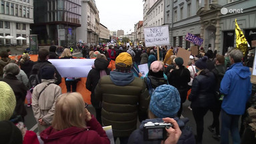
[[[115,60],[115,71],[101,77],[95,88],[95,97],[102,101],[103,126],[112,125],[115,140],[127,143],[139,121],[147,117],[150,96],[146,85],[131,72],[133,60],[129,53],[120,53]]]

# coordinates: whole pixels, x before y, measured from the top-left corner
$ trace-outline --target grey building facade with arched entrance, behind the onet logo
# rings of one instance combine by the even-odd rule
[[[235,19],[249,44],[256,39],[253,0],[165,0],[164,5],[171,46],[191,47],[194,44],[185,41],[185,35],[192,33],[203,39],[200,47],[224,54],[235,47]]]

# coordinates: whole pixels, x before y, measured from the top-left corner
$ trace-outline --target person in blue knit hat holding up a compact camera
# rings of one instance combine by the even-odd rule
[[[189,119],[177,118],[180,106],[181,98],[175,87],[171,85],[157,87],[151,95],[149,119],[142,121],[139,129],[131,133],[128,143],[195,143],[191,129],[185,126]]]

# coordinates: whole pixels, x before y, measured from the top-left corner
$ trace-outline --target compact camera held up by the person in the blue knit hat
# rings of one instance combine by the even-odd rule
[[[144,124],[143,137],[145,141],[163,140],[167,138],[165,127],[173,127],[171,123],[152,123],[151,121]]]

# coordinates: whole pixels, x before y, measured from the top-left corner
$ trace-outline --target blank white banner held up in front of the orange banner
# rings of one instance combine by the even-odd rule
[[[61,77],[87,77],[95,59],[48,59]]]

